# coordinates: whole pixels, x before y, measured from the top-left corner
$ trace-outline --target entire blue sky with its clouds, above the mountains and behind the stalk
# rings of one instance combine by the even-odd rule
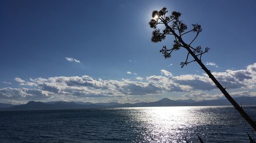
[[[188,28],[202,25],[194,46],[232,97],[256,96],[256,2],[0,1],[0,102],[135,103],[162,98],[223,98],[186,52],[159,52],[153,10],[179,11]],[[189,41],[190,39],[185,39]]]

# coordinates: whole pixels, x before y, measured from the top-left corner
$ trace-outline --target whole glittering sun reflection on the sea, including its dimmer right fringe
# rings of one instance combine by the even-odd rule
[[[129,109],[134,127],[138,128],[134,128],[134,130],[139,134],[134,142],[185,142],[185,138],[198,142],[197,133],[206,138],[205,132],[209,126],[211,130],[226,126],[226,122],[222,118],[228,119],[228,116],[222,117],[220,113],[212,112],[212,109],[218,110],[218,107],[209,106],[135,107]],[[217,134],[217,132],[211,133]]]

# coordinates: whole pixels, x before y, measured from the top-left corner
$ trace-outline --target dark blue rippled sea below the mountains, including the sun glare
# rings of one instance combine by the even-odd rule
[[[0,112],[0,142],[249,142],[247,132],[231,106]]]

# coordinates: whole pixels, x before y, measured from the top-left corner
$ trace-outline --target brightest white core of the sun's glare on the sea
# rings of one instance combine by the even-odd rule
[[[142,122],[145,130],[144,141],[175,142],[182,139],[185,128],[191,126],[191,108],[193,107],[147,107],[141,116],[134,117]],[[187,118],[189,116],[189,118]],[[181,141],[181,140],[180,140]]]

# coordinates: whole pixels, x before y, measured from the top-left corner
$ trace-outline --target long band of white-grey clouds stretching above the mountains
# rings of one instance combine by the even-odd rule
[[[133,74],[132,72],[127,72]],[[225,72],[212,72],[223,87],[228,89],[255,89],[256,87],[256,63],[247,66],[244,70],[226,70]],[[23,80],[16,77],[14,80],[20,85],[34,86],[34,89],[4,88],[1,90],[0,98],[49,98],[58,96],[67,99],[84,97],[124,97],[126,95],[156,95],[166,92],[188,92],[184,97],[218,98],[202,94],[203,91],[211,91],[216,85],[206,74],[183,74],[175,76],[172,73],[161,70],[161,75],[147,77],[136,77],[139,81],[130,79],[103,80],[94,79],[91,76],[55,76],[49,78],[30,78]],[[145,80],[142,80],[145,79]],[[193,92],[191,92],[193,91]],[[35,95],[33,95],[35,94]],[[253,95],[253,93],[243,93]],[[241,95],[241,93],[236,93]]]

